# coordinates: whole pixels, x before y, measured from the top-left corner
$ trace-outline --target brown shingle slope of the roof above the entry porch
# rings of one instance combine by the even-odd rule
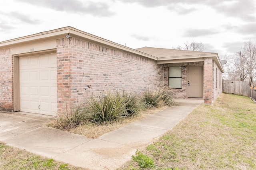
[[[186,51],[186,50],[163,49],[163,48],[154,48],[154,47],[142,47],[135,50],[140,51],[142,53],[149,54],[149,55],[153,55],[158,58],[216,54],[216,53],[204,52],[204,51]]]

